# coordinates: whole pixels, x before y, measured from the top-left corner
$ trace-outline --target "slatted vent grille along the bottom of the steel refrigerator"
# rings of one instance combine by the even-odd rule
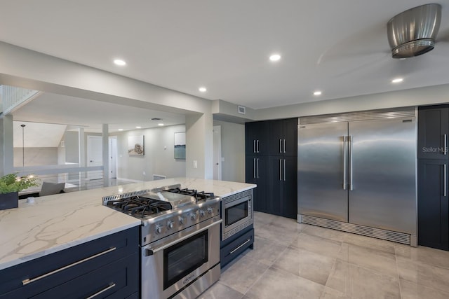
[[[314,216],[300,215],[300,217],[302,223],[317,225],[323,228],[332,228],[333,230],[341,230],[343,232],[352,232],[357,235],[375,237],[377,239],[385,239],[391,242],[410,245],[410,235],[403,232],[392,232],[391,230],[370,228],[368,226],[323,219]]]

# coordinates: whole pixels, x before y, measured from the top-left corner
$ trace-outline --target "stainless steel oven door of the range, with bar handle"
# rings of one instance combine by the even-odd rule
[[[215,217],[142,247],[142,298],[169,298],[213,267],[220,269],[221,222]],[[217,275],[213,281],[208,277],[207,283],[201,282],[200,292],[217,281],[220,272]]]

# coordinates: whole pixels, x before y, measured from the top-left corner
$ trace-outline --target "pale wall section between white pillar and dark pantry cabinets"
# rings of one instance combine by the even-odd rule
[[[222,132],[222,180],[245,182],[245,125],[214,120]]]

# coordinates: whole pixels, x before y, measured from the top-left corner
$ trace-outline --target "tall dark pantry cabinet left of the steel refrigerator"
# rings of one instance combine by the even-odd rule
[[[254,210],[288,218],[297,211],[297,118],[246,123],[246,182]]]

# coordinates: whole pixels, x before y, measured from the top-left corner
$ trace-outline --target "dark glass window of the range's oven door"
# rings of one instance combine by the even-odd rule
[[[163,289],[208,262],[208,230],[163,251]]]

